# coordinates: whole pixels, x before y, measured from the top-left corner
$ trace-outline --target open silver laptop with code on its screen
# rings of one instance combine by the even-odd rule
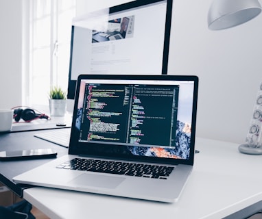
[[[80,75],[69,154],[16,183],[172,203],[193,169],[198,77]]]

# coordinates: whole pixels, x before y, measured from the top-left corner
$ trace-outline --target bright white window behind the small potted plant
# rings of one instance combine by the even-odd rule
[[[30,1],[27,100],[30,105],[47,105],[51,86],[67,90],[75,1]]]

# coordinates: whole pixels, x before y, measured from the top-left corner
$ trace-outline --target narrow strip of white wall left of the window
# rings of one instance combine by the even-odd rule
[[[22,1],[0,0],[0,108],[22,104]]]

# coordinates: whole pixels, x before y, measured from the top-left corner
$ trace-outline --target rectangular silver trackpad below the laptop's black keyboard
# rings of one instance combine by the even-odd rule
[[[100,188],[116,188],[124,179],[123,177],[110,177],[95,174],[82,174],[72,181],[69,181],[70,185],[77,187],[100,187]]]

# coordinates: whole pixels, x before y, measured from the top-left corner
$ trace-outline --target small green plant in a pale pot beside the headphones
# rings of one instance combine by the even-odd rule
[[[67,108],[67,92],[53,87],[49,92],[49,110],[51,116],[64,116]]]

